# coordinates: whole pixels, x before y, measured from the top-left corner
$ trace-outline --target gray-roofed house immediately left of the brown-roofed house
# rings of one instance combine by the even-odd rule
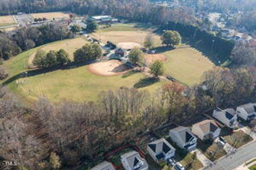
[[[194,150],[196,148],[197,139],[195,135],[186,127],[179,126],[169,131],[171,140],[180,148]]]

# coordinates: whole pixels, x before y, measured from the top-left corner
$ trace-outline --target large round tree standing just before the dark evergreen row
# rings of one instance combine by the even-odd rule
[[[162,44],[175,47],[180,44],[181,36],[177,31],[165,31],[161,36]]]

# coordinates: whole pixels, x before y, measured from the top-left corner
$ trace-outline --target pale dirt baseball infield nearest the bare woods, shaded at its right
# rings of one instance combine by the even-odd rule
[[[88,69],[93,74],[97,75],[117,75],[123,74],[128,70],[131,70],[131,67],[123,64],[118,60],[109,60],[105,62],[93,63],[88,66]]]

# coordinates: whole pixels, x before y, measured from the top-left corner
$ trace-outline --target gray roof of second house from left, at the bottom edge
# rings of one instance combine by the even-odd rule
[[[126,154],[123,154],[122,157],[127,160],[127,163],[129,164],[131,169],[139,170],[148,167],[146,160],[141,158],[140,154],[137,151],[127,152]],[[137,167],[140,162],[143,163],[143,165]]]

